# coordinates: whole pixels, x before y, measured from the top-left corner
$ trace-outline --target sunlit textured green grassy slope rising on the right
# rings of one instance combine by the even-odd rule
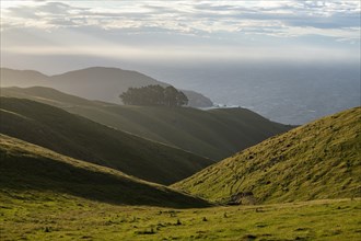
[[[267,139],[174,187],[225,203],[361,196],[361,107]]]

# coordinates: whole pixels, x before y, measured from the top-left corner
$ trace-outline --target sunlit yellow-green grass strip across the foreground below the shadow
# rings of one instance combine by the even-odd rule
[[[361,200],[168,209],[0,193],[0,240],[361,240]]]

